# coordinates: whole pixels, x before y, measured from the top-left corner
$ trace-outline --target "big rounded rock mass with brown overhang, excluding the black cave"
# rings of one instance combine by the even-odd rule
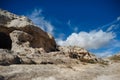
[[[0,32],[10,36],[11,50],[18,52],[26,47],[43,48],[46,52],[56,50],[54,38],[35,26],[24,16],[17,16],[0,9]]]

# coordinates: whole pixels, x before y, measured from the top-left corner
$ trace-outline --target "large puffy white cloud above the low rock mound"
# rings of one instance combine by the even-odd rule
[[[57,43],[59,45],[71,45],[71,46],[80,46],[86,49],[98,49],[102,46],[105,46],[112,39],[115,38],[115,34],[112,32],[103,32],[91,31],[91,32],[79,32],[72,33],[65,41],[59,39]]]

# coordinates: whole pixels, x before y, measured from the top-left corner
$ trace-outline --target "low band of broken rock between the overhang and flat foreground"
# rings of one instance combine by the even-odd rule
[[[23,46],[24,47],[24,46]],[[61,48],[61,47],[60,47]],[[71,51],[72,47],[63,47],[64,50],[45,53],[43,49],[23,48],[20,52],[1,51],[1,65],[4,64],[79,64],[81,62],[97,63],[98,59],[87,50],[83,53]],[[78,47],[77,47],[78,48]],[[81,49],[81,48],[79,48]],[[4,49],[3,49],[4,50]],[[70,51],[70,52],[69,52]],[[4,52],[4,53],[3,53]],[[79,51],[80,52],[80,51]],[[86,52],[86,53],[85,53]]]

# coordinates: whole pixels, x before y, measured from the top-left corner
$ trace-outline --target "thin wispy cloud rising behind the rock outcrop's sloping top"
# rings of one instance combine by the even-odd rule
[[[34,9],[33,12],[27,16],[41,29],[54,35],[54,26],[49,21],[45,20],[41,9]]]

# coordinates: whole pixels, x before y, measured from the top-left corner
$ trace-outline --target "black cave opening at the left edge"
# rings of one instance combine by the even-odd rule
[[[0,48],[11,50],[12,48],[12,40],[9,35],[0,32]]]

